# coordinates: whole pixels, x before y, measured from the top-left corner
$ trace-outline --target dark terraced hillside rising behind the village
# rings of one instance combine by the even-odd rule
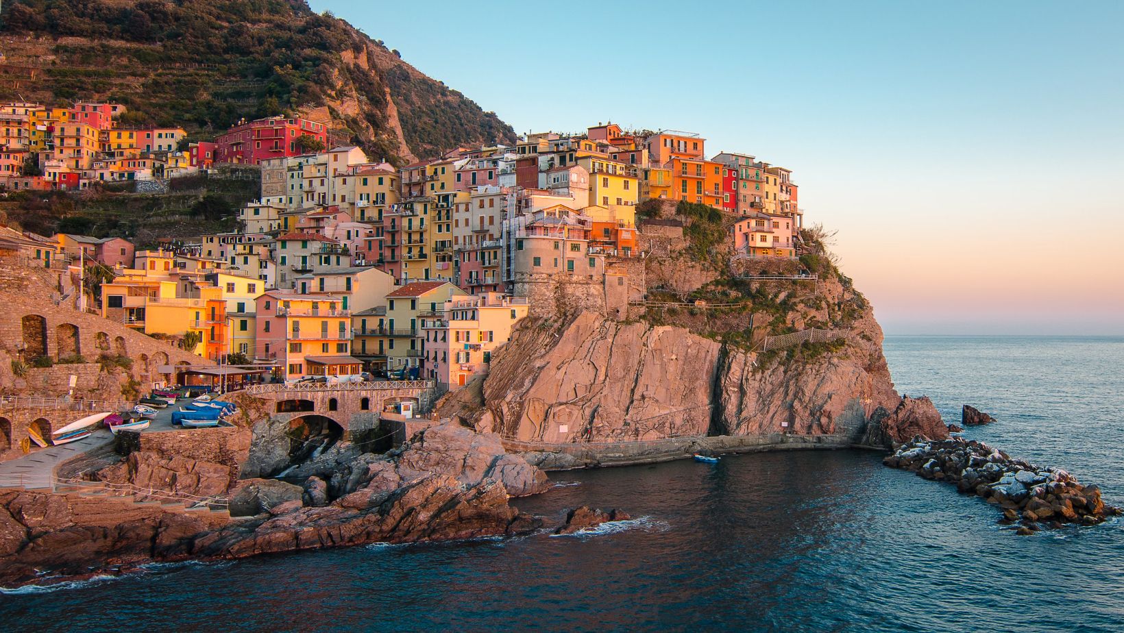
[[[392,162],[515,139],[510,126],[305,0],[3,3],[0,100],[124,103],[125,125],[193,138],[299,112]]]

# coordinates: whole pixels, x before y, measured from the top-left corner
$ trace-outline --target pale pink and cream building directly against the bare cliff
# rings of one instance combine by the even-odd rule
[[[499,292],[445,301],[444,318],[422,322],[423,376],[456,389],[487,373],[492,352],[507,343],[527,309],[526,297]]]

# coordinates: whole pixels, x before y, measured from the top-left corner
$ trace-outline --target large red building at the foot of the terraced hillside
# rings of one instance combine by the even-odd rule
[[[215,139],[215,162],[256,165],[266,159],[299,156],[307,153],[297,143],[301,136],[328,145],[327,126],[308,119],[271,117],[242,123]]]

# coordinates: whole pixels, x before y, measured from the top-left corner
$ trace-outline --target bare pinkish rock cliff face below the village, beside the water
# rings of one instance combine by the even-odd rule
[[[794,308],[782,320],[803,328],[843,306],[852,310],[845,341],[779,353],[700,336],[701,324],[622,324],[590,311],[565,324],[527,322],[495,356],[482,408],[470,417],[481,429],[550,443],[777,433],[876,444],[946,437],[927,399],[901,406],[870,306],[836,279],[821,280],[817,296],[813,308]],[[738,323],[724,323],[727,331],[750,317],[728,318]],[[872,417],[879,431],[868,434]]]

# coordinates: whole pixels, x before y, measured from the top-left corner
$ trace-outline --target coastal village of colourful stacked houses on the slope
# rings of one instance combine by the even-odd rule
[[[123,112],[0,106],[0,190],[161,191],[170,179],[250,166],[261,197],[238,210],[238,228],[158,244],[22,233],[11,247],[78,274],[98,265],[97,291],[87,286],[75,305],[230,365],[214,374],[224,386],[365,373],[456,389],[488,371],[519,319],[553,309],[559,287],[627,318],[646,292],[636,265],[650,237],[683,239],[682,221],[645,217],[645,201],[720,211],[738,259],[801,252],[790,170],[708,155],[689,132],[599,123],[395,168],[334,146],[326,124],[305,118],[239,121],[189,143],[182,128],[118,125]],[[167,378],[149,387],[201,379]]]

